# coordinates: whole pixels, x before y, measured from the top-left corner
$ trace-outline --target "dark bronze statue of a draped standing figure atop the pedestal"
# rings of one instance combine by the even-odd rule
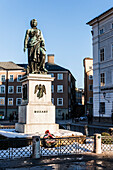
[[[30,22],[31,29],[26,31],[24,52],[28,48],[27,73],[47,73],[45,69],[45,42],[41,30],[37,29],[37,20]]]

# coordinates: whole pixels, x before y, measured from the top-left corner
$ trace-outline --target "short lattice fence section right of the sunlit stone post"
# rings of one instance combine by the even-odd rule
[[[102,152],[113,151],[113,136],[101,137],[101,149]]]

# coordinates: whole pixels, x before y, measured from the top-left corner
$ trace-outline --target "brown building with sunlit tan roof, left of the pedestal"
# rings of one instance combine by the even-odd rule
[[[25,74],[24,68],[13,62],[0,62],[0,119],[18,114],[22,101],[20,79]]]

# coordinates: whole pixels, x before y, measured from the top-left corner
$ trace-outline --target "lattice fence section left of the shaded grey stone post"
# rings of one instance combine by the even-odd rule
[[[0,159],[30,157],[32,139],[14,138],[0,140]]]

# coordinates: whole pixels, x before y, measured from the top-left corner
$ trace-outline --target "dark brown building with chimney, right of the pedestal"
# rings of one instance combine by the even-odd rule
[[[55,77],[52,102],[56,106],[56,119],[72,118],[75,114],[75,78],[68,69],[54,63],[54,55],[48,55],[46,69]]]

